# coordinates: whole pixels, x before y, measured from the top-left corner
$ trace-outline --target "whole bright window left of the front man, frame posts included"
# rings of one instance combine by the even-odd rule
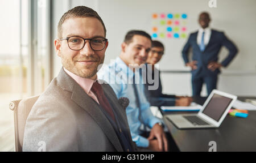
[[[0,1],[0,151],[14,151],[10,101],[40,95],[50,81],[50,2]]]

